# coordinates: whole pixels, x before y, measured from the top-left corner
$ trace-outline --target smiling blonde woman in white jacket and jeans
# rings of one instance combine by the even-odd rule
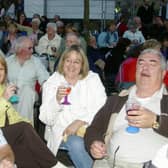
[[[61,104],[67,94],[70,105]],[[105,88],[96,73],[89,71],[81,47],[73,45],[60,58],[58,71],[43,85],[40,120],[46,124],[45,138],[56,155],[63,147],[76,168],[91,168],[93,160],[86,152],[82,133],[106,101]]]

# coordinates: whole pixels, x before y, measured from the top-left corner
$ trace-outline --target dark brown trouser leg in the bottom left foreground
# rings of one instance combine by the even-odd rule
[[[51,168],[57,163],[30,124],[21,122],[4,127],[2,131],[13,149],[18,168]]]

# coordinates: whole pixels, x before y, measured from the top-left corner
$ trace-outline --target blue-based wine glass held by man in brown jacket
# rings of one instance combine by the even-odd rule
[[[130,115],[130,114],[128,114],[129,111],[138,110],[140,108],[140,106],[141,106],[140,103],[138,101],[136,101],[135,99],[128,99],[126,102],[126,105],[125,105],[127,115]],[[139,128],[129,125],[126,128],[126,131],[129,133],[138,133]]]

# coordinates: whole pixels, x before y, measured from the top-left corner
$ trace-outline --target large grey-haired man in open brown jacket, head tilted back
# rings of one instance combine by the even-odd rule
[[[136,84],[108,98],[85,134],[87,150],[98,159],[94,167],[142,168],[168,142],[168,92],[163,84],[166,61],[154,49],[144,50],[137,60]],[[141,106],[126,114],[125,103]],[[127,127],[139,132],[127,132]]]

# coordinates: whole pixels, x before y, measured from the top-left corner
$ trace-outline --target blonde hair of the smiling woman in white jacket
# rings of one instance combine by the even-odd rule
[[[71,53],[72,51],[77,52],[82,58],[82,67],[81,67],[80,75],[81,75],[81,79],[83,79],[88,75],[89,63],[88,63],[87,56],[85,55],[83,49],[78,45],[72,45],[70,48],[67,48],[63,52],[63,54],[61,55],[60,61],[58,63],[57,70],[60,74],[64,74],[63,65],[65,62],[65,59],[69,56],[69,53]]]

